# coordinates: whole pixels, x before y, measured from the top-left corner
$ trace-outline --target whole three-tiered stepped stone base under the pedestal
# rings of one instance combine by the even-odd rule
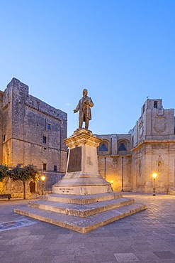
[[[85,233],[146,208],[146,205],[135,203],[134,199],[111,192],[96,195],[50,194],[14,212]]]

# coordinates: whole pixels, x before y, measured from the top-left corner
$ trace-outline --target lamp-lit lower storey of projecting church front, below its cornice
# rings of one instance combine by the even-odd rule
[[[157,173],[157,193],[170,193],[175,186],[175,141],[157,140],[143,143],[132,155],[132,173],[136,178],[133,190],[152,193],[152,173]]]

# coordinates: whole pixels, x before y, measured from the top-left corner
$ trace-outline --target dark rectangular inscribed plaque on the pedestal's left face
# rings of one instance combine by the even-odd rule
[[[81,147],[70,149],[67,172],[81,171]]]

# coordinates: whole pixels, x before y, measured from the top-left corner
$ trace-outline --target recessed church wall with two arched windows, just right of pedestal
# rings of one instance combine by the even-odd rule
[[[106,181],[113,181],[113,190],[120,191],[123,188],[130,190],[131,186],[131,163],[130,163],[130,134],[107,134],[98,135],[103,139],[98,146],[99,173]],[[120,149],[120,144],[124,149]],[[124,150],[124,151],[121,151]],[[122,158],[123,157],[123,158]]]

